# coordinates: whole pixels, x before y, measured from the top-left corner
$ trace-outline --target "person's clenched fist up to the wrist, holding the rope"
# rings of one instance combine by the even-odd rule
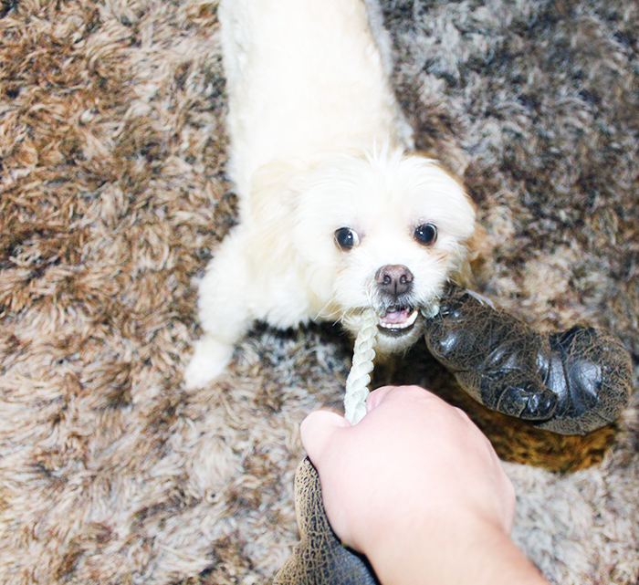
[[[372,392],[366,410],[354,426],[324,411],[301,425],[343,542],[366,550],[376,534],[402,529],[420,511],[437,518],[449,509],[466,509],[509,533],[513,487],[466,413],[416,386]]]

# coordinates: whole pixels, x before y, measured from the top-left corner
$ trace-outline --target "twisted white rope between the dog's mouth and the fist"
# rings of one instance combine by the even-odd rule
[[[344,395],[345,416],[351,424],[359,423],[366,414],[366,397],[369,393],[368,385],[371,383],[372,360],[375,359],[378,320],[377,312],[373,308],[366,308],[361,313],[361,328],[355,340],[352,366],[346,379]]]

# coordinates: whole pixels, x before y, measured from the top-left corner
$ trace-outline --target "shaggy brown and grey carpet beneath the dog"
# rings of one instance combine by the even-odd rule
[[[297,539],[298,425],[340,407],[337,328],[257,327],[183,390],[194,282],[233,225],[215,2],[0,5],[0,582],[267,582]],[[478,287],[539,329],[639,355],[639,3],[388,0],[420,148],[487,229]],[[637,583],[636,395],[558,437],[487,413],[514,537],[555,583]]]

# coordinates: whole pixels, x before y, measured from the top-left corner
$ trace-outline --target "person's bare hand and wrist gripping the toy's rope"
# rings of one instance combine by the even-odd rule
[[[523,564],[530,580],[520,582],[544,582],[508,538],[513,486],[466,413],[415,386],[381,388],[366,406],[353,426],[335,413],[311,413],[301,437],[331,527],[367,555],[382,583],[421,582],[425,567],[433,582],[464,580],[459,555],[470,568],[471,558],[484,565],[493,550],[507,579],[519,579]],[[504,551],[517,570],[503,569]]]

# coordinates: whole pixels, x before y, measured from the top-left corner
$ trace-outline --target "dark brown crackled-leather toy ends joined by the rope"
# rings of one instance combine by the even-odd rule
[[[613,423],[633,389],[620,340],[592,327],[539,334],[490,301],[449,287],[428,319],[436,360],[478,402],[553,433],[588,434]],[[368,561],[330,528],[319,476],[309,459],[295,479],[300,542],[274,585],[372,585]]]

